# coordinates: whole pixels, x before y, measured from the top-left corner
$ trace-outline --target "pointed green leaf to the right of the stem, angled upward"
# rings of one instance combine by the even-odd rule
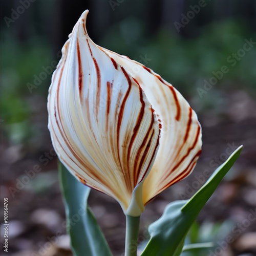
[[[196,220],[200,210],[209,200],[228,170],[239,157],[240,146],[225,163],[219,166],[208,181],[189,200],[168,204],[163,215],[148,227],[151,239],[142,252],[142,256],[178,256],[186,234]]]

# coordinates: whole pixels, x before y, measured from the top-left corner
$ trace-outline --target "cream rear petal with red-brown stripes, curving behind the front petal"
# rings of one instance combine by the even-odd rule
[[[100,48],[102,49],[102,48]],[[161,124],[156,160],[143,183],[143,203],[187,177],[201,154],[201,125],[184,97],[151,69],[106,49],[140,84]]]

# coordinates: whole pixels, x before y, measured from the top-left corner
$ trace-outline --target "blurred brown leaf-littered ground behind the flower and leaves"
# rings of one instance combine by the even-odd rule
[[[57,231],[65,233],[62,222],[65,220],[64,207],[58,184],[56,157],[46,164],[42,155],[49,153],[51,141],[46,127],[47,112],[45,99],[32,95],[33,120],[37,134],[24,145],[11,145],[2,132],[1,141],[1,208],[3,198],[9,200],[9,253],[13,256],[39,254],[40,246],[45,246],[47,237],[53,237]],[[203,127],[203,153],[198,165],[187,179],[170,187],[147,205],[141,218],[140,242],[145,240],[146,226],[157,220],[170,201],[181,199],[186,194],[188,185],[196,180],[196,175],[206,169],[211,172],[215,157],[223,160],[229,144],[238,147],[244,145],[243,152],[226,179],[220,184],[216,193],[198,218],[202,222],[224,222],[232,220],[231,228],[247,218],[250,210],[256,208],[256,104],[245,93],[236,91],[229,95],[225,108],[219,111],[198,112]],[[6,129],[4,121],[3,130]],[[230,152],[230,151],[228,151]],[[45,157],[43,157],[45,159]],[[49,155],[49,158],[52,158]],[[46,165],[44,165],[44,163]],[[25,170],[38,164],[42,170],[14,193],[10,187],[16,186],[16,179],[21,179]],[[218,165],[218,164],[217,164]],[[195,190],[196,191],[196,190]],[[185,196],[186,197],[186,196]],[[184,198],[184,197],[183,197]],[[187,198],[187,197],[186,197]],[[185,198],[185,199],[186,199]],[[114,255],[121,255],[124,246],[124,216],[119,205],[111,198],[92,191],[89,204],[110,243]],[[1,222],[3,222],[3,210]],[[3,224],[3,223],[2,223]],[[251,222],[221,255],[256,255],[256,221]],[[1,232],[3,227],[1,227]],[[1,240],[3,237],[1,236]],[[3,240],[2,240],[3,241]],[[1,244],[2,244],[1,241]],[[3,246],[1,246],[3,252]],[[67,236],[62,236],[58,243],[51,246],[47,256],[72,255]],[[208,255],[208,254],[207,254]],[[243,254],[245,255],[245,254]]]

